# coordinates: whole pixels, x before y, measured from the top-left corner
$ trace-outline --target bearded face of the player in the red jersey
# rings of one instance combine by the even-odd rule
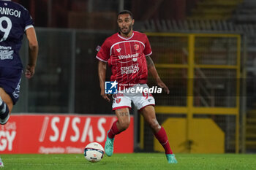
[[[134,24],[134,20],[131,18],[129,14],[121,14],[118,15],[117,18],[118,28],[121,34],[126,36],[132,32],[132,26]]]

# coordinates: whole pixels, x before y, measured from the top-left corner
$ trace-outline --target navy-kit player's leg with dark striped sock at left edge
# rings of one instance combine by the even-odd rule
[[[0,88],[0,124],[4,125],[7,123],[10,117],[10,112],[12,111],[13,103],[12,98]]]

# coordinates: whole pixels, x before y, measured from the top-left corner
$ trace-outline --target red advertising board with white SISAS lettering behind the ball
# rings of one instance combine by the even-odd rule
[[[90,142],[104,147],[116,116],[11,115],[0,126],[0,153],[83,153]],[[115,138],[114,152],[133,152],[133,117]]]

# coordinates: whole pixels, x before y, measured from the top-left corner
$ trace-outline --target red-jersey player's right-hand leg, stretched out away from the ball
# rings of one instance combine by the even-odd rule
[[[168,142],[165,128],[159,125],[157,121],[154,107],[151,105],[143,107],[142,109],[140,109],[140,113],[143,115],[146,123],[148,123],[148,125],[150,126],[151,130],[154,133],[154,136],[156,136],[159,143],[162,144],[162,147],[164,147],[168,163],[177,163],[175,155],[173,154],[173,151],[170,149],[170,144]]]

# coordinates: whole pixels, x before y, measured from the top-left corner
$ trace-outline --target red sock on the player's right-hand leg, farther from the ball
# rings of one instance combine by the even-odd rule
[[[165,154],[173,154],[173,151],[170,149],[165,128],[161,127],[160,131],[154,134],[154,136],[156,136],[157,140],[162,144],[162,147],[164,147]]]

